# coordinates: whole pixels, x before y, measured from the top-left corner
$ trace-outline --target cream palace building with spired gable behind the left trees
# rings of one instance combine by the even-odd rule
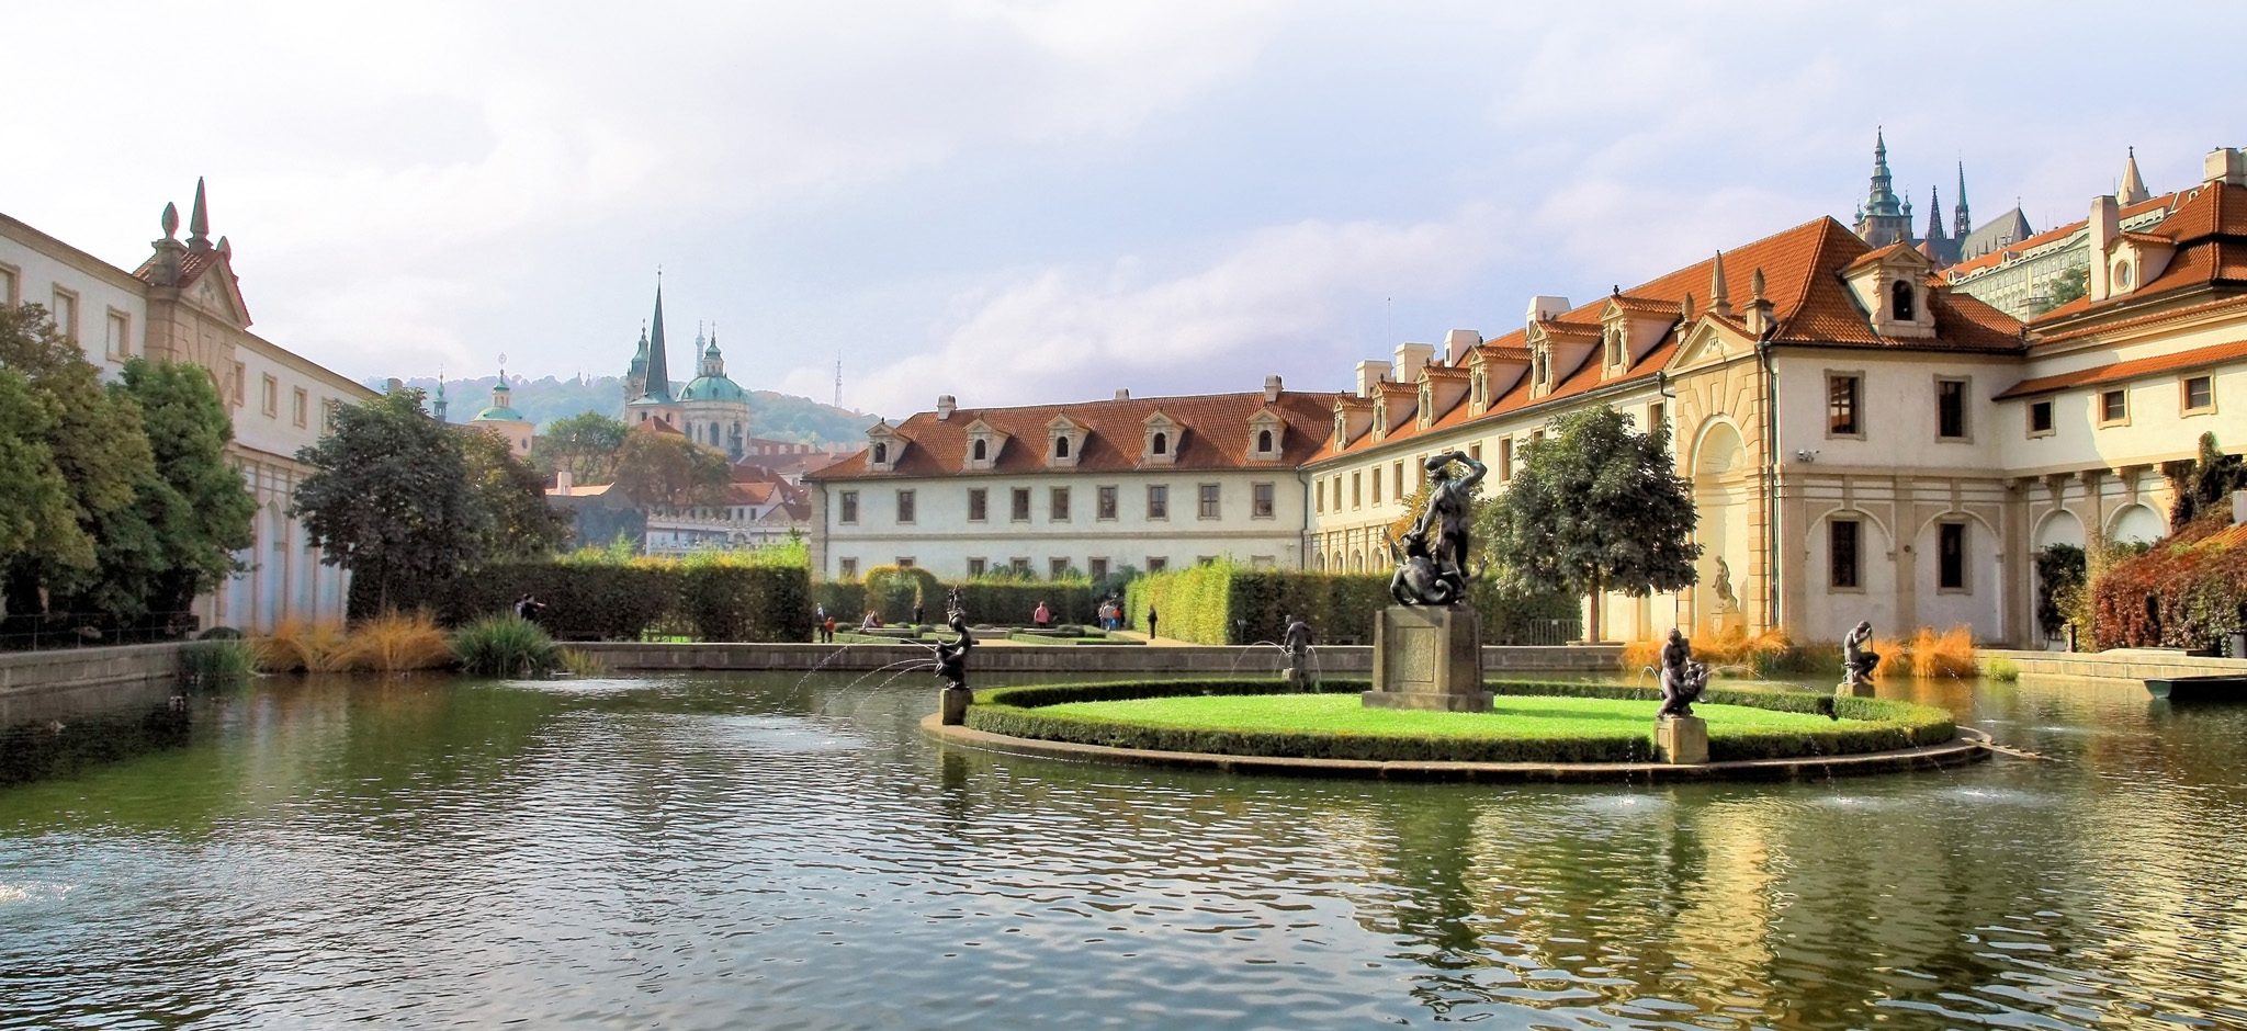
[[[94,258],[16,218],[0,216],[0,303],[38,303],[85,357],[115,380],[133,357],[191,362],[211,375],[234,413],[227,451],[258,501],[256,544],[238,553],[245,573],[195,600],[204,627],[267,631],[283,620],[344,618],[348,573],[319,562],[303,523],[288,517],[310,467],[297,449],[328,431],[337,404],[373,391],[256,332],[234,274],[234,245],[211,240],[209,204],[195,182],[187,240],[178,209],[164,207],[164,238],[133,272]]]

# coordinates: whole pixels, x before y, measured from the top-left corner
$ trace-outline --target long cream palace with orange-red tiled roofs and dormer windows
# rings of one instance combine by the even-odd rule
[[[2126,229],[2135,204],[2092,200],[2087,296],[2027,323],[1948,283],[1923,240],[1872,245],[1818,218],[1593,303],[1535,296],[1497,339],[1404,344],[1341,395],[944,398],[807,476],[813,571],[1234,555],[1380,573],[1427,456],[1467,451],[1505,490],[1553,418],[1611,404],[1670,427],[1703,548],[1692,589],[1589,602],[1613,636],[1838,640],[1872,620],[2043,645],[2038,548],[2157,539],[2200,434],[2247,445],[2247,155],[2213,150],[2168,202]],[[1207,449],[1189,463],[1182,440]],[[1195,496],[1211,508],[1186,523]],[[1252,521],[1231,532],[1243,496]]]

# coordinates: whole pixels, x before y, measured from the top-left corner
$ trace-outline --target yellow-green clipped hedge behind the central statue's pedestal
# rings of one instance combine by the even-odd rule
[[[1483,615],[1483,642],[1528,638],[1530,620],[1571,620],[1580,604],[1566,595],[1501,597],[1476,582],[1467,600]],[[1254,645],[1281,640],[1288,615],[1310,624],[1312,640],[1373,640],[1373,620],[1395,600],[1384,575],[1258,571],[1229,562],[1195,564],[1135,580],[1126,609],[1146,629],[1146,609],[1162,613],[1162,636],[1198,645]]]

